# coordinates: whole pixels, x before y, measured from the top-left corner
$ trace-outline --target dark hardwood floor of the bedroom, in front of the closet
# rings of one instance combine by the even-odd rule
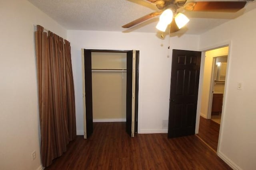
[[[66,153],[46,170],[229,170],[195,135],[167,139],[167,134],[136,134],[125,122],[94,123],[90,139],[77,136]]]

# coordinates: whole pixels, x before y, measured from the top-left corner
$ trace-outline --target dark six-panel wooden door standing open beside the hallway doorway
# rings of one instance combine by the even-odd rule
[[[168,138],[193,135],[201,52],[172,51]]]

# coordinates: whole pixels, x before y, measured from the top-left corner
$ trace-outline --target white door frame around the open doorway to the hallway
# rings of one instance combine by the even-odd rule
[[[203,85],[203,77],[204,77],[204,62],[205,62],[205,52],[206,51],[210,51],[213,49],[218,49],[221,47],[226,47],[228,46],[228,66],[227,66],[227,70],[226,70],[226,78],[225,78],[225,87],[224,87],[224,95],[223,95],[223,104],[222,104],[222,114],[221,114],[221,122],[220,122],[220,132],[219,132],[219,139],[218,139],[218,147],[217,147],[217,155],[220,155],[219,153],[219,143],[221,143],[222,141],[222,128],[224,127],[224,121],[225,121],[225,112],[226,112],[226,96],[227,96],[227,90],[226,88],[229,86],[229,82],[228,82],[228,77],[230,74],[230,59],[232,58],[232,55],[230,53],[231,49],[232,49],[232,42],[231,41],[226,41],[226,42],[222,42],[222,43],[218,43],[215,44],[213,46],[210,47],[206,47],[204,49],[201,49],[199,51],[202,51],[202,56],[201,56],[201,70],[200,70],[200,77],[199,77],[199,90],[198,90],[198,101],[197,101],[197,109],[196,109],[196,129],[195,129],[195,133],[198,134],[199,131],[199,123],[200,123],[200,109],[201,109],[201,102],[202,102],[202,85]]]

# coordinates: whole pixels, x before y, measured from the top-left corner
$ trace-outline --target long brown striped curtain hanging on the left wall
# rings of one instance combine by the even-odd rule
[[[68,41],[37,25],[35,43],[41,160],[47,167],[76,137],[74,80]]]

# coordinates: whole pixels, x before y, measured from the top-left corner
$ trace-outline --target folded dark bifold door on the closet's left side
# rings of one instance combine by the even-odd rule
[[[86,126],[84,128],[85,138],[92,135],[92,54],[90,50],[84,49],[84,80],[85,80],[85,106],[86,106]]]

